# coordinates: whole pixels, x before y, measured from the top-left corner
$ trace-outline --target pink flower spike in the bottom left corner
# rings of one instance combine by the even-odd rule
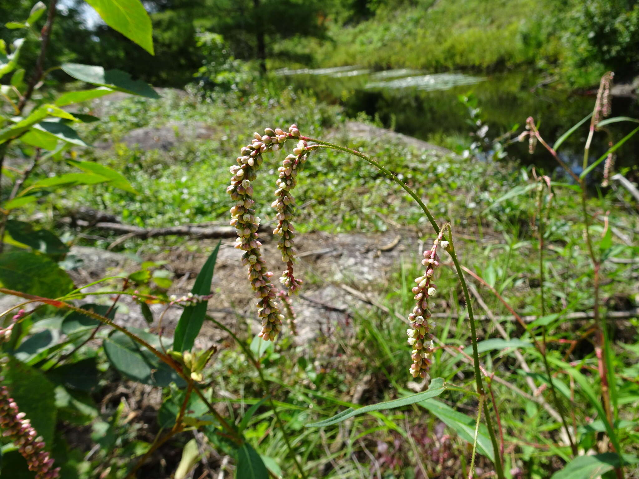
[[[4,377],[0,377],[0,382]],[[60,468],[53,469],[53,459],[45,452],[45,443],[31,421],[20,413],[18,405],[9,395],[5,386],[0,386],[0,427],[3,436],[17,446],[20,454],[27,460],[29,471],[35,472],[36,479],[54,479],[59,477]]]

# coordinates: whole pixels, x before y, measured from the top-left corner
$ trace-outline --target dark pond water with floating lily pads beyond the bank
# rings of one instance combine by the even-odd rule
[[[596,90],[577,94],[553,87],[552,83],[544,84],[539,75],[530,72],[479,76],[406,68],[374,72],[358,66],[341,66],[282,69],[275,73],[297,88],[315,91],[326,102],[341,103],[350,116],[366,112],[387,128],[434,143],[450,137],[458,137],[460,143],[468,142],[469,134],[477,130],[470,121],[468,108],[459,100],[460,95],[477,99],[480,118],[489,127],[489,138],[508,132],[514,125],[520,125],[517,131],[521,132],[526,118],[533,116],[549,144],[592,111],[596,96]],[[639,118],[639,103],[627,97],[613,98],[612,114]],[[589,122],[575,132],[559,152],[576,172],[581,169],[588,125]],[[615,142],[635,126],[627,122],[609,125]],[[599,158],[607,148],[607,135],[596,133],[591,160]],[[539,146],[534,155],[529,155],[527,142],[514,143],[507,151],[512,158],[534,163],[546,171],[556,167],[548,152]],[[637,165],[639,135],[617,153],[617,165]]]

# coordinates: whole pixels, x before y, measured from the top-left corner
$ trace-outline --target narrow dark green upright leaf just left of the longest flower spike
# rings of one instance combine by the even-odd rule
[[[220,249],[222,241],[217,243],[215,250],[208,257],[202,270],[198,273],[196,282],[191,289],[193,294],[210,294],[211,282],[213,280],[213,270],[215,270],[215,260],[217,259],[217,252]],[[175,351],[186,351],[193,347],[193,343],[197,335],[199,334],[202,324],[204,323],[204,317],[206,317],[206,306],[208,301],[201,301],[193,306],[187,306],[184,308],[180,321],[175,328],[175,335],[173,338],[173,349]]]

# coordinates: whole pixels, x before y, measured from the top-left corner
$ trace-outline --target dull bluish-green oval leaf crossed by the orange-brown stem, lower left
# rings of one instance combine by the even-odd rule
[[[128,328],[128,330],[156,349],[162,349],[157,335],[146,333],[137,328]],[[171,341],[163,339],[162,345],[169,349]],[[113,331],[105,338],[103,346],[111,365],[134,381],[162,387],[168,386],[172,382],[178,386],[185,384],[171,367],[120,331]]]

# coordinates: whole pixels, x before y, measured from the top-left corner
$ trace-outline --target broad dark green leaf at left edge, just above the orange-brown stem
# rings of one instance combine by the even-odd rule
[[[59,298],[73,289],[71,278],[58,263],[29,251],[0,254],[0,285],[45,298]]]

